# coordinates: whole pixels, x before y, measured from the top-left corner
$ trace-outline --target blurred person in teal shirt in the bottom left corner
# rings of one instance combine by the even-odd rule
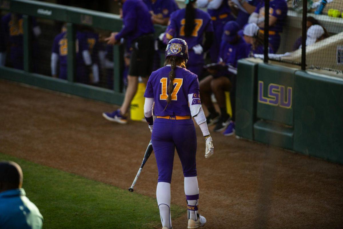
[[[22,188],[23,172],[12,161],[0,161],[0,228],[41,229],[43,216]]]

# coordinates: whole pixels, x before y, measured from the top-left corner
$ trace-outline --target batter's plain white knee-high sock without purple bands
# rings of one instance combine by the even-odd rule
[[[170,216],[170,184],[167,182],[158,182],[156,188],[156,198],[161,216],[162,227],[171,229]]]

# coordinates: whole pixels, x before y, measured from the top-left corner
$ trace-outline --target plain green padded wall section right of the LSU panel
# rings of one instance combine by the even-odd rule
[[[295,72],[294,150],[343,163],[343,79]]]

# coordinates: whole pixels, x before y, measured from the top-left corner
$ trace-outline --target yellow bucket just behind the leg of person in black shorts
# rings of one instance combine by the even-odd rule
[[[130,106],[130,118],[134,121],[142,121],[144,118],[144,92],[145,84],[138,83],[137,92],[134,95]]]

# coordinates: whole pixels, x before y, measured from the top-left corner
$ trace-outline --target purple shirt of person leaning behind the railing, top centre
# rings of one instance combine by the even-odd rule
[[[169,18],[170,14],[178,10],[179,7],[175,0],[143,0],[149,11],[153,11],[159,18]]]

